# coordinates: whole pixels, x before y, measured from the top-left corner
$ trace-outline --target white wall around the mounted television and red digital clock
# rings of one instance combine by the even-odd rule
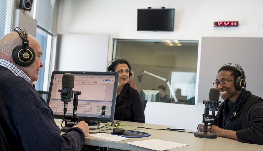
[[[161,6],[175,8],[174,32],[137,31],[137,9]],[[258,0],[60,0],[57,33],[110,35],[109,59],[112,38],[201,40],[202,36],[262,37],[263,29],[257,29],[257,23],[263,22],[262,6],[263,1]],[[214,27],[214,21],[239,21],[239,26]],[[208,99],[208,96],[200,99]],[[192,130],[201,123],[203,113],[201,103],[189,107],[149,102],[145,109],[146,123]]]

